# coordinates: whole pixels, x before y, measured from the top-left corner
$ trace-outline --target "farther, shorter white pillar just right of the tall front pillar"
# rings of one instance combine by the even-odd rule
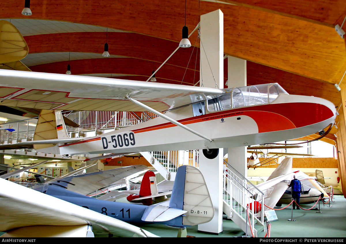
[[[246,86],[246,60],[228,56],[228,87]],[[244,177],[247,176],[246,146],[229,147],[228,163]],[[226,150],[225,150],[226,151]]]

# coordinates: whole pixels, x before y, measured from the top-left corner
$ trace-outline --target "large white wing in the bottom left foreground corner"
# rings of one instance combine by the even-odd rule
[[[141,228],[0,179],[0,231],[25,226],[90,224],[95,236],[151,236]]]

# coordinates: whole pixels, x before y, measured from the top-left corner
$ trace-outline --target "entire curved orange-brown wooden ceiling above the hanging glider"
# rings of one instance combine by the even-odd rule
[[[27,29],[24,38],[29,47],[22,62],[30,60],[28,67],[39,72],[65,73],[69,62],[66,57],[48,60],[39,54],[94,53],[100,58],[71,60],[72,73],[124,74],[134,75],[126,79],[146,80],[153,67],[156,70],[177,47],[185,25],[183,0],[35,0],[30,4],[31,16],[21,15],[23,8],[24,1],[1,1],[0,19],[11,19],[13,23],[20,19],[16,27]],[[187,0],[189,31],[197,26],[199,15],[216,9],[224,13],[224,53],[248,61],[248,84],[278,82],[291,94],[322,97],[339,105],[340,94],[334,84],[340,82],[346,70],[346,47],[334,26],[341,26],[346,16],[343,0]],[[36,28],[23,24],[29,20]],[[93,32],[75,30],[55,21],[102,28]],[[101,57],[105,27],[109,28],[109,53],[121,57]],[[110,31],[114,29],[122,32]],[[189,39],[194,45],[197,31]],[[196,46],[180,48],[157,72],[157,81],[196,84],[198,42]]]

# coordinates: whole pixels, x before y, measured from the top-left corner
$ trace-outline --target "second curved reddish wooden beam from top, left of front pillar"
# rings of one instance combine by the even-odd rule
[[[29,54],[49,52],[103,53],[106,43],[105,32],[73,32],[25,36]],[[156,62],[156,69],[177,48],[178,44],[136,33],[109,32],[107,34],[108,51],[111,55],[134,57]],[[198,51],[197,66],[195,66]],[[191,62],[189,59],[191,58]],[[179,48],[167,64],[199,70],[199,48]],[[153,65],[152,65],[153,66]]]

